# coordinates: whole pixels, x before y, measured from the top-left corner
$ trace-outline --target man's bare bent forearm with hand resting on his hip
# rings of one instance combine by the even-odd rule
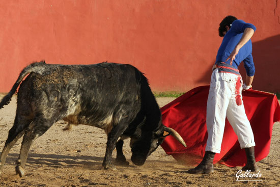
[[[235,56],[238,54],[238,51],[241,47],[243,47],[243,45],[245,45],[245,43],[247,43],[251,37],[254,34],[254,29],[251,28],[246,28],[240,41],[237,43],[237,45],[235,46],[235,48],[233,49],[231,55],[229,56],[229,58],[226,60],[228,61],[229,59],[231,59],[231,63],[230,65],[232,65],[233,60],[235,59]],[[247,79],[247,78],[246,78]]]

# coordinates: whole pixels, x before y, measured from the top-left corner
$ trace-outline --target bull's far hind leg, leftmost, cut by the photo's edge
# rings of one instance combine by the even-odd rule
[[[4,164],[6,163],[7,155],[11,148],[15,145],[18,139],[23,135],[24,129],[31,123],[31,120],[27,120],[23,117],[16,115],[13,127],[9,130],[8,139],[6,140],[5,146],[0,156],[0,174],[3,170]]]

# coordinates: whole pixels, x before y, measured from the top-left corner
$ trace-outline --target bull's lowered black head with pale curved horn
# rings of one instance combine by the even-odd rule
[[[137,166],[142,166],[147,157],[154,152],[163,142],[165,137],[169,135],[176,138],[183,146],[186,147],[186,143],[176,130],[161,125],[160,129],[156,132],[145,133],[145,135],[142,135],[139,139],[131,138],[131,161]]]

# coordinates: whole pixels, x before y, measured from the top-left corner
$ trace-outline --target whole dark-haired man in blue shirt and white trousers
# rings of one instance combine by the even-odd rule
[[[259,171],[255,161],[255,141],[250,122],[245,114],[241,91],[251,87],[255,74],[250,38],[256,31],[253,24],[238,20],[234,16],[224,18],[219,26],[219,36],[223,37],[218,49],[216,62],[212,68],[210,90],[207,100],[208,139],[202,162],[188,173],[211,173],[214,171],[215,153],[220,147],[225,129],[226,117],[233,127],[241,149],[245,149],[247,164],[243,171]],[[237,67],[243,61],[246,80],[243,84]],[[242,85],[243,84],[243,85]]]

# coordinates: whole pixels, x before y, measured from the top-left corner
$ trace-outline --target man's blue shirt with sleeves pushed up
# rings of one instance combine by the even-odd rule
[[[232,23],[231,29],[226,33],[223,37],[221,45],[219,47],[216,63],[225,62],[230,64],[231,60],[227,60],[227,58],[231,55],[231,52],[240,41],[244,31],[246,28],[251,28],[256,31],[256,26],[251,23],[246,23],[243,20],[235,20]],[[252,56],[252,42],[249,40],[245,45],[243,45],[233,60],[232,65],[238,68],[239,64],[243,61],[246,73],[248,76],[253,76],[255,74],[255,65]]]

